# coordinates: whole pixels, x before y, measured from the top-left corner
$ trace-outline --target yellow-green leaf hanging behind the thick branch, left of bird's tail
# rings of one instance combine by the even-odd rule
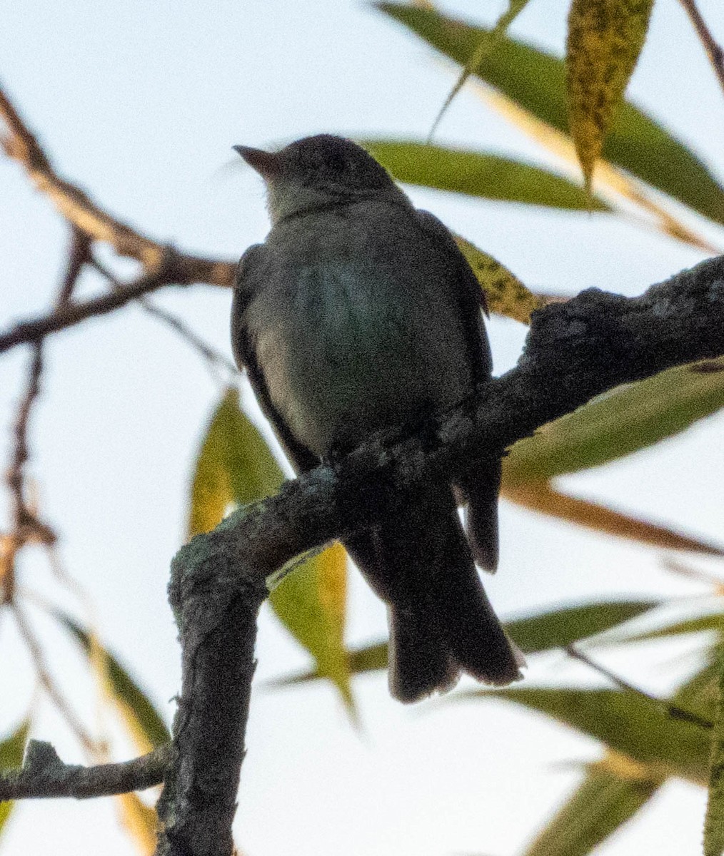
[[[284,473],[266,441],[239,406],[236,389],[218,403],[196,459],[189,536],[207,532],[232,505],[276,493]],[[335,544],[302,562],[272,591],[269,602],[284,627],[314,657],[320,674],[338,687],[350,713],[353,703],[344,650],[347,567]]]

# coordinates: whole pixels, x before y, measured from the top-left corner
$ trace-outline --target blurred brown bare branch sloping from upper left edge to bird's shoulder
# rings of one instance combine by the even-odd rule
[[[146,235],[141,235],[126,223],[112,217],[96,205],[87,193],[83,193],[79,187],[60,178],[39,146],[38,140],[31,134],[2,89],[0,89],[0,118],[8,128],[8,134],[2,140],[5,152],[25,167],[35,187],[51,199],[69,223],[93,241],[105,241],[111,244],[119,255],[138,259],[147,270],[159,268],[165,256],[165,245],[152,241]],[[227,287],[234,280],[236,268],[236,265],[230,262],[203,259],[187,253],[178,253],[175,265],[176,282],[208,282],[211,285]],[[110,310],[106,310],[108,311]]]

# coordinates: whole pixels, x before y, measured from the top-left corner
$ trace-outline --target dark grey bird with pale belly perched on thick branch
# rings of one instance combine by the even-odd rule
[[[380,163],[329,134],[235,148],[266,183],[272,229],[239,263],[232,345],[298,473],[488,381],[482,289],[446,227]],[[453,487],[434,483],[344,542],[387,604],[390,689],[404,702],[461,670],[497,685],[520,676],[475,566],[498,561],[500,462],[454,487],[467,540]]]

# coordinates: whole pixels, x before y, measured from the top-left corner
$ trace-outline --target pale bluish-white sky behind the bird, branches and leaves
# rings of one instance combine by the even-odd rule
[[[700,0],[700,7],[724,37],[721,3]],[[490,23],[504,4],[461,0],[444,8]],[[0,79],[61,174],[149,235],[228,258],[267,229],[260,181],[237,168],[230,146],[322,131],[422,138],[454,80],[451,68],[411,33],[349,0],[26,0],[2,9]],[[561,0],[531,0],[513,33],[561,52],[565,15]],[[709,163],[719,158],[721,175],[721,91],[675,0],[655,6],[630,94]],[[542,158],[470,92],[453,104],[437,139]],[[0,187],[4,328],[48,306],[67,229],[21,169],[2,158]],[[532,288],[574,294],[599,286],[638,294],[703,258],[613,218],[419,189],[410,195]],[[721,231],[708,234],[724,244]],[[90,291],[99,283],[88,276],[83,285]],[[199,286],[166,289],[154,299],[229,352],[230,293]],[[489,330],[496,372],[505,371],[517,359],[524,328],[495,318]],[[218,387],[186,344],[136,307],[54,337],[45,352],[44,395],[31,435],[40,507],[62,534],[64,563],[92,597],[103,639],[170,721],[179,651],[165,586],[183,538],[194,455]],[[0,359],[3,454],[26,361],[22,349]],[[721,416],[709,419],[653,451],[563,484],[721,542],[723,426]],[[504,618],[587,597],[705,591],[668,573],[655,550],[509,504],[501,506],[501,543],[500,572],[487,586]],[[33,550],[23,555],[21,583],[75,605]],[[41,614],[33,612],[33,620],[51,668],[93,726],[93,686],[75,647]],[[348,631],[351,644],[386,633],[382,604],[356,574]],[[8,620],[0,621],[0,645],[4,734],[27,710],[33,677]],[[665,692],[696,662],[679,655],[695,649],[693,642],[667,651],[640,645],[613,652],[607,662]],[[330,687],[262,686],[308,663],[266,611],[258,658],[235,826],[248,856],[513,856],[575,787],[580,764],[599,754],[592,741],[511,705],[404,707],[389,698],[382,673],[355,681],[357,733]],[[568,675],[595,681],[555,654],[532,666],[527,680],[532,686]],[[47,703],[34,736],[51,740],[64,760],[83,761]],[[131,752],[117,744],[117,757]],[[696,853],[704,797],[691,785],[667,784],[597,853]],[[0,853],[48,853],[49,841],[57,856],[95,856],[99,847],[104,856],[135,853],[111,800],[21,805]]]

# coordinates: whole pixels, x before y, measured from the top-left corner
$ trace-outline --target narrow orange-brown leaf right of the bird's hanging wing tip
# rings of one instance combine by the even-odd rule
[[[597,502],[567,496],[554,490],[550,482],[527,482],[509,488],[504,479],[500,495],[532,511],[567,520],[577,526],[586,526],[595,532],[605,532],[616,538],[627,538],[665,550],[691,550],[709,556],[724,556],[724,549],[715,544],[707,544],[666,526],[656,526],[647,520],[621,514]]]

